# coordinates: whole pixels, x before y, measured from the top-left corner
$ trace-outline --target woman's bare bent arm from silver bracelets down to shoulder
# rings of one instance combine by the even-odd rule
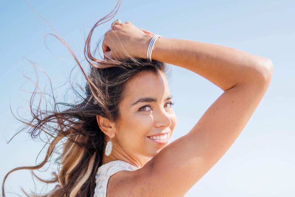
[[[269,86],[273,65],[241,50],[163,37],[156,41],[152,59],[189,69],[224,90],[191,131],[135,171],[135,187],[128,190],[140,196],[179,197],[237,139]]]

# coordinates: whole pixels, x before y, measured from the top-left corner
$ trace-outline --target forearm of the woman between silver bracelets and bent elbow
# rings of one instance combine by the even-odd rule
[[[158,38],[152,59],[191,70],[224,91],[237,84],[267,82],[273,72],[268,58],[226,46],[174,38]]]

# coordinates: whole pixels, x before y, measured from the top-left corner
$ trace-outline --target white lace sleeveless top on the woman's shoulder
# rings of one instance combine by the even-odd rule
[[[137,169],[138,167],[122,160],[111,161],[98,167],[95,175],[96,186],[93,197],[106,197],[108,179],[116,172],[121,170],[133,171]]]

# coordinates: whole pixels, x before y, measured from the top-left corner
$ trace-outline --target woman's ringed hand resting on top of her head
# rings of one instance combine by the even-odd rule
[[[146,58],[148,45],[155,34],[137,28],[131,22],[116,23],[104,35],[104,58]]]

